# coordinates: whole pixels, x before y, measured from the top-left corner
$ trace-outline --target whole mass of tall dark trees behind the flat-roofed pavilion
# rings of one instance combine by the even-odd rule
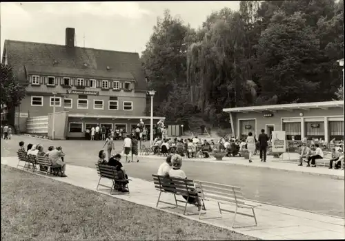
[[[220,125],[224,107],[339,99],[343,14],[342,0],[241,1],[193,30],[167,10],[142,54],[155,113]]]

